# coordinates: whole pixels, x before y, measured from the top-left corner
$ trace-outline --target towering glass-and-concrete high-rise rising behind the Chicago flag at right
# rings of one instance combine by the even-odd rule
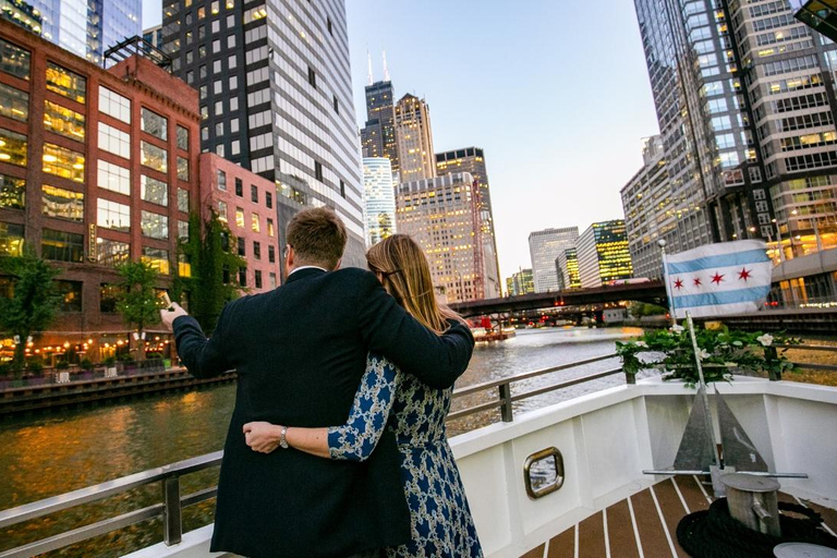
[[[635,5],[676,217],[667,250],[780,236],[787,257],[816,251],[837,213],[835,92],[823,78],[837,46],[789,2]]]

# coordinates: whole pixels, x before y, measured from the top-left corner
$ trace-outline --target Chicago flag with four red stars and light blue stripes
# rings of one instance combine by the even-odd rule
[[[665,260],[675,318],[755,312],[771,292],[773,262],[764,241],[706,244]]]

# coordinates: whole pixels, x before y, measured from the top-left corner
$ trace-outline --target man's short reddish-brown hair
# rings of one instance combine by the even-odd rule
[[[296,214],[288,223],[288,244],[296,265],[337,268],[345,250],[345,226],[330,207],[315,207]]]

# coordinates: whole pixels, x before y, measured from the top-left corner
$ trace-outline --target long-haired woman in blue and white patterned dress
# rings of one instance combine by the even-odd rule
[[[395,234],[366,253],[369,270],[414,318],[436,333],[461,319],[440,307],[422,248],[408,235]],[[401,374],[386,359],[369,354],[349,420],[328,428],[288,427],[289,446],[330,459],[362,461],[375,448],[384,427],[393,430],[401,452],[401,477],[410,508],[412,539],[387,548],[388,557],[482,556],[465,492],[447,441],[445,416],[453,387],[434,389]],[[395,421],[389,421],[393,413]],[[247,423],[244,434],[255,451],[279,446],[281,425]]]

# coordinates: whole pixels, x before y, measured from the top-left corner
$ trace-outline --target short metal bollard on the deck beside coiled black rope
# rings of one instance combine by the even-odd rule
[[[744,526],[772,536],[781,536],[779,526],[779,483],[766,476],[731,473],[720,477],[727,487],[727,504],[732,519]]]

